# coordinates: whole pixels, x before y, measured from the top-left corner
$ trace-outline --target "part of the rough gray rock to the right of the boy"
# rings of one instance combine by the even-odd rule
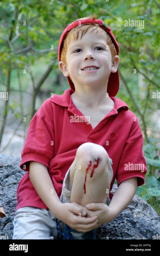
[[[117,186],[114,185],[114,193]],[[101,225],[97,239],[153,239],[160,234],[160,217],[145,200],[135,195],[112,222]]]

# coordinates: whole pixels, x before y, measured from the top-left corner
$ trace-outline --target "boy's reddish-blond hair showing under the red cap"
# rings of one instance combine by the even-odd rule
[[[96,15],[91,15],[91,16],[87,16],[87,17],[83,17],[83,18],[80,18],[80,19],[77,19],[77,20],[74,20],[73,22],[75,21],[78,21],[78,20],[85,20],[85,19],[93,19],[93,20],[96,20]],[[72,23],[72,22],[71,22]],[[68,23],[71,24],[71,23]],[[72,28],[67,34],[66,34],[66,37],[64,38],[64,41],[63,41],[63,45],[62,45],[62,50],[61,50],[61,54],[60,54],[60,59],[61,61],[66,65],[66,51],[67,51],[67,45],[69,44],[69,42],[71,41],[71,38],[73,36],[73,39],[74,40],[77,40],[78,39],[78,36],[79,36],[79,32],[81,31],[82,34],[81,34],[81,38],[82,36],[88,31],[88,30],[92,30],[92,31],[96,31],[97,32],[106,32],[106,35],[107,35],[107,45],[110,47],[110,51],[111,51],[111,58],[112,58],[112,62],[113,62],[113,59],[115,57],[115,55],[117,55],[117,52],[116,52],[116,49],[115,49],[115,46],[112,42],[112,39],[111,37],[109,36],[109,34],[107,33],[107,31],[105,31],[103,28],[100,27],[100,25],[98,23],[88,23],[88,24],[82,24],[81,26],[77,26],[75,28]],[[81,39],[80,38],[80,39]],[[71,77],[70,77],[71,78]],[[71,78],[72,80],[72,78]]]

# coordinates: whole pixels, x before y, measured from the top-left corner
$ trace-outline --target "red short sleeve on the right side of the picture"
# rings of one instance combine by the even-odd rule
[[[127,179],[137,177],[137,184],[141,186],[145,183],[144,176],[146,172],[147,166],[143,154],[143,134],[137,119],[133,122],[117,166],[117,185],[119,186],[121,182]]]

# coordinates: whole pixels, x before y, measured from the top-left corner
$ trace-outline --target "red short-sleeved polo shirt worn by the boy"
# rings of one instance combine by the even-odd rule
[[[48,167],[60,198],[65,173],[74,161],[78,147],[85,142],[102,145],[112,159],[110,190],[115,178],[118,185],[131,177],[138,177],[138,186],[145,183],[147,168],[142,150],[143,135],[136,115],[124,101],[110,97],[114,101],[114,109],[94,129],[87,121],[71,122],[71,116],[83,116],[70,97],[72,93],[73,90],[67,89],[63,95],[53,94],[29,124],[20,164],[26,173],[17,188],[16,210],[24,206],[48,209],[29,179],[29,161]],[[113,194],[109,195],[111,199]]]

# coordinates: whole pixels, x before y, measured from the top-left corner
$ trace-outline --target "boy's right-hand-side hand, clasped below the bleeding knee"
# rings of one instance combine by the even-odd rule
[[[87,217],[93,217],[93,216],[98,217],[99,222],[96,228],[116,218],[116,215],[113,209],[109,208],[108,205],[104,203],[90,203],[88,204],[90,206],[89,208],[81,206],[75,202],[73,202],[73,204],[79,207],[82,207],[87,212]]]

